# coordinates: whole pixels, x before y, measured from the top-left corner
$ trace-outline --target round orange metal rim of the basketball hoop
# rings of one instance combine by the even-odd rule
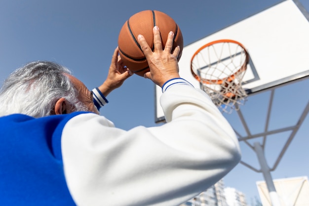
[[[230,75],[229,77],[225,78],[225,79],[219,79],[219,80],[207,80],[207,79],[202,79],[200,78],[194,71],[193,71],[193,66],[192,66],[192,61],[194,59],[194,57],[204,48],[212,45],[212,44],[215,44],[215,43],[222,43],[222,42],[231,42],[231,43],[236,43],[238,44],[239,46],[241,46],[245,52],[245,55],[246,55],[246,59],[245,59],[245,62],[243,63],[243,65],[241,66],[241,68],[239,70],[237,70],[235,73],[233,73],[232,75]],[[198,82],[202,82],[202,83],[207,83],[207,84],[222,84],[222,82],[228,80],[228,82],[232,82],[232,80],[235,79],[235,76],[236,74],[238,74],[239,72],[243,72],[247,69],[247,64],[249,62],[249,54],[248,54],[248,51],[247,49],[241,44],[239,43],[238,41],[234,41],[234,40],[216,40],[216,41],[211,41],[205,45],[203,45],[202,47],[200,47],[199,49],[197,49],[195,51],[195,53],[193,54],[192,58],[191,58],[191,73],[193,75],[193,77],[198,81]]]

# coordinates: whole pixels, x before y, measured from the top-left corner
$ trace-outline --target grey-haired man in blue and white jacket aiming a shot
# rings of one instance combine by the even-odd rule
[[[130,76],[117,49],[93,92],[51,62],[8,77],[0,91],[0,204],[177,206],[226,175],[240,160],[238,141],[210,98],[180,78],[173,37],[162,48],[154,27],[154,51],[138,37],[145,78],[162,87],[167,123],[157,127],[125,131],[98,115],[96,106]]]

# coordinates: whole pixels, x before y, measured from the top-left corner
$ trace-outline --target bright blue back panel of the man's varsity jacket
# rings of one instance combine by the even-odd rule
[[[64,176],[61,134],[78,114],[0,118],[0,205],[76,206]]]

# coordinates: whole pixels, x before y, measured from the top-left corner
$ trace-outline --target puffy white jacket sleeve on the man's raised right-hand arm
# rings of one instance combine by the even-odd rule
[[[174,85],[161,96],[167,124],[121,130],[81,114],[62,134],[69,190],[78,206],[177,206],[240,160],[230,124],[202,91]]]

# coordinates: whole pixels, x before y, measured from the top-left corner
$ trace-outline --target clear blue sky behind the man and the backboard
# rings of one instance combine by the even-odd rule
[[[180,26],[184,44],[188,45],[277,2],[280,0],[188,0],[181,3],[172,0],[1,0],[0,82],[27,62],[50,60],[69,67],[91,89],[105,80],[120,28],[136,12],[152,9],[167,13]],[[309,10],[309,2],[301,2]],[[304,92],[308,86],[309,81],[303,81],[280,88],[283,91],[278,91],[271,126],[295,124],[300,116],[296,109],[308,102],[308,92]],[[298,100],[300,97],[302,99]],[[154,84],[151,81],[133,76],[111,93],[108,100],[110,103],[101,114],[117,127],[158,125],[154,123]],[[260,111],[267,101],[267,94],[248,99],[244,111],[252,130],[263,129],[265,113]],[[282,103],[287,105],[282,107]],[[227,118],[237,127],[235,114]],[[273,178],[309,175],[308,125],[307,118],[272,172]],[[272,138],[268,143],[270,165],[281,138],[284,137]],[[255,156],[243,146],[243,160],[256,164]],[[249,203],[251,198],[258,196],[255,182],[259,180],[263,180],[261,173],[243,165],[236,166],[225,177],[226,186],[244,192]]]

